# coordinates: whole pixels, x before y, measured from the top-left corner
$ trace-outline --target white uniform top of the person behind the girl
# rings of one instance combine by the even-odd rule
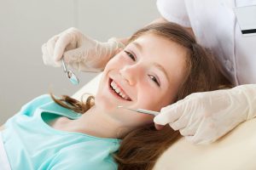
[[[212,50],[224,75],[236,85],[256,83],[256,36],[241,34],[233,10],[250,5],[256,0],[157,1],[166,20],[192,27],[197,41]]]

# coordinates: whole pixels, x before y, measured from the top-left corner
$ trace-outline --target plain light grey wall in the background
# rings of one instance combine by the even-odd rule
[[[43,63],[41,46],[55,34],[77,27],[105,42],[129,37],[160,17],[155,0],[0,0],[0,125],[41,94],[73,95],[96,73],[77,72],[68,81],[62,68]]]

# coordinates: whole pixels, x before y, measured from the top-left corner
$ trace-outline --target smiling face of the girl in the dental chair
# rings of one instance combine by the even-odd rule
[[[118,105],[160,111],[173,103],[185,77],[186,50],[176,42],[145,34],[108,62],[96,93],[96,107],[128,127],[153,122],[153,116],[117,109]]]

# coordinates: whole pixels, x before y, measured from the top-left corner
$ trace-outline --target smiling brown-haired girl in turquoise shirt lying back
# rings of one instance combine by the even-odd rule
[[[189,94],[217,89],[219,77],[210,55],[183,27],[147,26],[108,61],[95,98],[45,94],[9,118],[0,135],[0,168],[151,169],[171,144],[165,136],[172,129],[156,131],[153,116],[117,106],[160,111]]]

